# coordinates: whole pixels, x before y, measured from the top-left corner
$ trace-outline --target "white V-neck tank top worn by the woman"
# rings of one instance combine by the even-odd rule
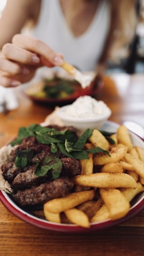
[[[32,35],[64,55],[65,61],[81,71],[93,71],[103,51],[110,24],[110,8],[103,0],[91,25],[79,37],[71,33],[59,0],[43,0],[37,26]]]

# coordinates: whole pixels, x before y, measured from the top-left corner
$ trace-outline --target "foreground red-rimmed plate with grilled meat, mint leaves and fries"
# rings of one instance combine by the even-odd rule
[[[126,221],[144,206],[144,142],[123,125],[29,125],[1,148],[0,201],[23,221],[86,233]]]

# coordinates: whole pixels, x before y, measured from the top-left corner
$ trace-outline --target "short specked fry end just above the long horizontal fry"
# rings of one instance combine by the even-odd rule
[[[107,163],[101,168],[101,173],[123,173],[123,167],[120,163]]]

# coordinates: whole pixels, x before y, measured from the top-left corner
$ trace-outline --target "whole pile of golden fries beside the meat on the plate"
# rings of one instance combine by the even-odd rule
[[[144,191],[144,148],[133,145],[123,125],[111,138],[113,145],[93,130],[85,147],[101,147],[110,155],[89,153],[89,159],[81,160],[81,175],[73,178],[75,191],[45,203],[48,221],[89,228],[91,223],[121,219],[129,213],[132,199]]]

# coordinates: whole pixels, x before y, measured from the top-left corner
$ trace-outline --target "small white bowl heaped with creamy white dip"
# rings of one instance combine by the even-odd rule
[[[87,128],[100,129],[111,116],[111,109],[103,101],[85,95],[70,105],[60,107],[57,115],[66,126],[73,126],[83,132]]]

